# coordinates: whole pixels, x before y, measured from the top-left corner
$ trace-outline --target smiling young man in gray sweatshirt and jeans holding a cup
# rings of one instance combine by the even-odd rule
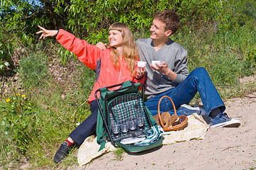
[[[140,60],[147,62],[145,95],[148,101],[145,105],[152,115],[157,115],[158,102],[162,96],[172,98],[178,109],[182,104],[189,104],[199,91],[204,109],[211,118],[211,127],[240,126],[240,120],[228,118],[224,113],[226,106],[206,69],[196,68],[189,74],[187,50],[169,39],[179,26],[177,13],[169,10],[160,11],[152,22],[150,38],[136,41]],[[96,46],[105,48],[100,42]],[[152,65],[154,60],[161,61],[161,64]],[[173,113],[172,103],[168,98],[161,101],[160,112]]]

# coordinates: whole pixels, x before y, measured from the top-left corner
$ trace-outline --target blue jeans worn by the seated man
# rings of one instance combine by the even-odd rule
[[[214,108],[220,108],[222,113],[225,111],[226,106],[213,85],[208,72],[203,67],[194,69],[182,83],[173,89],[148,99],[148,101],[145,101],[145,105],[152,115],[157,115],[157,106],[160,98],[162,96],[169,96],[169,98],[172,98],[174,106],[178,110],[182,104],[189,104],[197,91],[199,91],[201,101],[208,116]],[[160,113],[166,111],[174,113],[172,102],[169,101],[169,98],[162,99]]]

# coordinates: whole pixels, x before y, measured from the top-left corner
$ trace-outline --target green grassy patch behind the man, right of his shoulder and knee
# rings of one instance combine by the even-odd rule
[[[189,52],[190,71],[205,67],[216,86],[238,86],[238,78],[255,72],[255,33],[245,26],[233,31],[201,27],[173,36]]]

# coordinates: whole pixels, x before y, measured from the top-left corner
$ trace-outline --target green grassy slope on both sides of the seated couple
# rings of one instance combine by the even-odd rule
[[[241,86],[238,81],[241,77],[255,73],[255,34],[256,30],[245,26],[220,32],[210,28],[182,28],[172,39],[188,50],[189,71],[205,67],[213,84],[226,100],[255,90],[255,82]],[[135,35],[137,39],[141,38],[138,36],[140,34]],[[143,32],[143,35],[148,33]],[[34,50],[31,54],[34,57],[43,54],[49,62],[54,58],[54,52],[48,53],[44,49]],[[72,69],[62,72],[65,77],[60,82],[55,81],[50,72],[46,72],[46,58],[41,62],[26,57],[23,60],[25,62],[20,69],[26,74],[21,74],[22,89],[9,84],[10,90],[0,98],[0,166],[18,169],[18,164],[24,158],[28,159],[33,169],[55,166],[65,169],[70,164],[77,164],[74,153],[60,165],[54,164],[52,158],[60,144],[77,127],[77,123],[82,123],[90,114],[87,98],[94,84],[94,72],[84,64],[74,62],[69,66]],[[33,62],[42,68],[42,72],[38,72],[37,67],[27,67],[35,65]],[[68,62],[72,62],[72,59]],[[6,99],[16,94],[26,94],[26,102],[16,101],[14,106],[18,109],[13,110]],[[198,99],[199,95],[196,95],[194,101]],[[115,154],[116,159],[122,159],[123,149],[118,149]]]

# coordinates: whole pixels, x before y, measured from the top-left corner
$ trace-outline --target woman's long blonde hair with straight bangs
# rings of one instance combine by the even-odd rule
[[[109,30],[118,30],[123,36],[123,59],[126,61],[130,74],[135,76],[135,62],[138,59],[138,50],[133,39],[133,33],[125,23],[113,23]],[[111,47],[111,59],[114,67],[120,67],[120,57],[115,47]]]

